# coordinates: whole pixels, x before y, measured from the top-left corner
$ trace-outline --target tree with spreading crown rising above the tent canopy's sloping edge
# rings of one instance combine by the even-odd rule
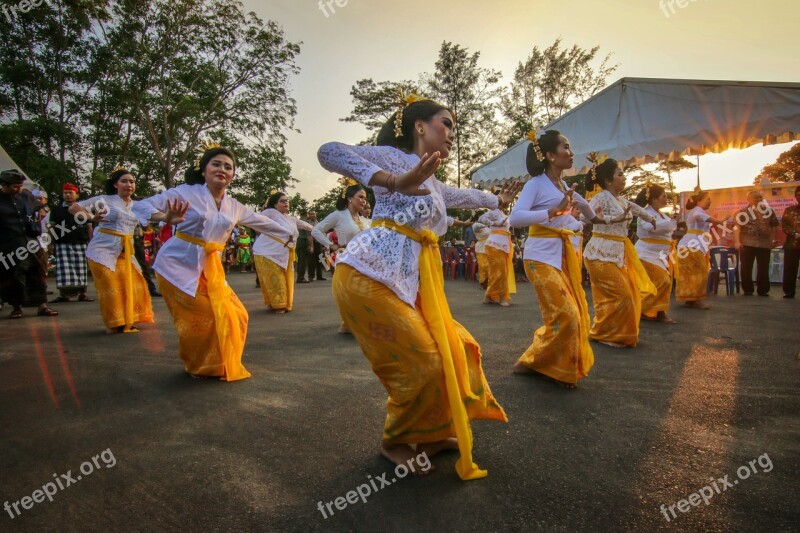
[[[514,71],[500,108],[508,120],[507,145],[531,129],[541,128],[605,87],[618,65],[609,65],[610,54],[595,68],[600,47],[585,50],[577,45],[561,49],[561,39],[545,50],[533,47],[531,55]]]

